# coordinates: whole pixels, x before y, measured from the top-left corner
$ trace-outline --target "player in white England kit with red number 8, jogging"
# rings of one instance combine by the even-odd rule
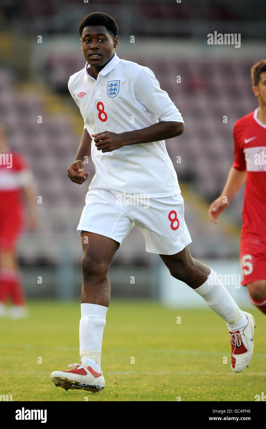
[[[122,240],[134,224],[144,234],[146,250],[159,254],[175,278],[205,299],[226,322],[231,368],[240,372],[253,355],[254,317],[238,308],[214,271],[191,257],[184,204],[165,139],[183,133],[179,110],[159,87],[153,72],[119,59],[118,27],[112,17],[95,12],[79,25],[84,69],[70,77],[70,94],[84,118],[84,130],[70,180],[82,184],[86,157],[96,173],[86,195],[77,232],[83,245],[80,364],[54,371],[50,378],[65,390],[100,392],[101,344],[110,302],[107,272]]]

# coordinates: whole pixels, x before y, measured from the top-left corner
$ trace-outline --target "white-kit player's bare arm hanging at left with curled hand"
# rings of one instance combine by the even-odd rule
[[[91,143],[92,138],[89,135],[88,131],[85,129],[81,137],[80,145],[76,153],[73,164],[71,164],[67,169],[67,175],[73,183],[79,185],[83,184],[88,176],[89,172],[83,174],[83,169],[85,166],[84,159],[85,157],[91,156]]]

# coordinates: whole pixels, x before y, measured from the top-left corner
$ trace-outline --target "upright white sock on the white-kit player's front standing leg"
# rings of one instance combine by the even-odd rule
[[[101,343],[108,308],[97,304],[81,304],[79,322],[79,356],[81,364],[101,372]]]

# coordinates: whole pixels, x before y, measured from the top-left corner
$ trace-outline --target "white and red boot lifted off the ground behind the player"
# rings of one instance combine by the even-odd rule
[[[251,361],[254,350],[255,319],[252,314],[244,311],[248,318],[245,328],[240,331],[229,332],[231,341],[231,368],[234,372],[241,372]]]

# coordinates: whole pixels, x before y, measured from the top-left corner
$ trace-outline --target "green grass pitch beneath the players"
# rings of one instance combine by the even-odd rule
[[[49,378],[79,362],[79,303],[31,302],[30,309],[28,319],[0,323],[0,394],[13,401],[254,401],[266,389],[266,318],[256,308],[255,354],[235,374],[227,327],[211,310],[111,302],[102,348],[106,387],[96,394],[65,392]]]

